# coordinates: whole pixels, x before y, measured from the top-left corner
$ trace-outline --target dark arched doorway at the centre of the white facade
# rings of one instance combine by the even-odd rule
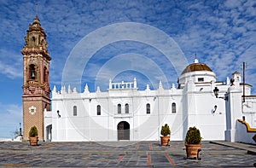
[[[130,125],[126,121],[121,121],[117,125],[118,140],[130,140]]]

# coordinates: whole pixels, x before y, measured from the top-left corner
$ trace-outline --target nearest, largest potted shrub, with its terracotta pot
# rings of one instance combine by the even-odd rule
[[[201,134],[195,126],[189,127],[185,138],[185,146],[187,152],[187,158],[199,158],[199,152],[201,151]]]

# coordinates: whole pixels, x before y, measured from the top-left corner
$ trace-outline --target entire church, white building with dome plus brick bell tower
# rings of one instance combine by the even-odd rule
[[[161,126],[168,124],[171,141],[183,141],[189,126],[201,130],[202,140],[256,141],[256,96],[251,96],[252,85],[242,83],[240,72],[231,74],[231,82],[217,82],[212,69],[195,59],[170,89],[159,82],[157,90],[148,84],[138,90],[134,78],[109,79],[107,91],[98,87],[90,92],[87,84],[82,92],[69,85],[51,91],[51,57],[38,16],[25,39],[24,139],[36,125],[41,141],[158,141]]]

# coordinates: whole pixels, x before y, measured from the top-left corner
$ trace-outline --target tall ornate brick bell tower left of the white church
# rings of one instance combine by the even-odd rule
[[[44,109],[50,110],[48,43],[38,14],[26,31],[23,55],[23,130],[28,139],[33,125],[38,128],[39,140],[44,140]]]

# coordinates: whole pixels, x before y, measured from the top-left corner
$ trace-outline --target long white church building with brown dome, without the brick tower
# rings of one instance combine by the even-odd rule
[[[202,140],[243,141],[238,130],[244,125],[237,119],[256,127],[256,97],[251,85],[241,84],[239,72],[231,78],[232,83],[230,78],[217,82],[211,68],[195,59],[178,78],[178,87],[172,84],[168,90],[161,81],[158,90],[148,84],[138,90],[136,78],[119,83],[110,79],[107,91],[98,87],[90,92],[87,84],[83,93],[70,86],[54,88],[52,110],[44,111],[44,137],[52,142],[156,141],[161,126],[168,124],[171,141],[183,141],[189,126],[201,130]]]

